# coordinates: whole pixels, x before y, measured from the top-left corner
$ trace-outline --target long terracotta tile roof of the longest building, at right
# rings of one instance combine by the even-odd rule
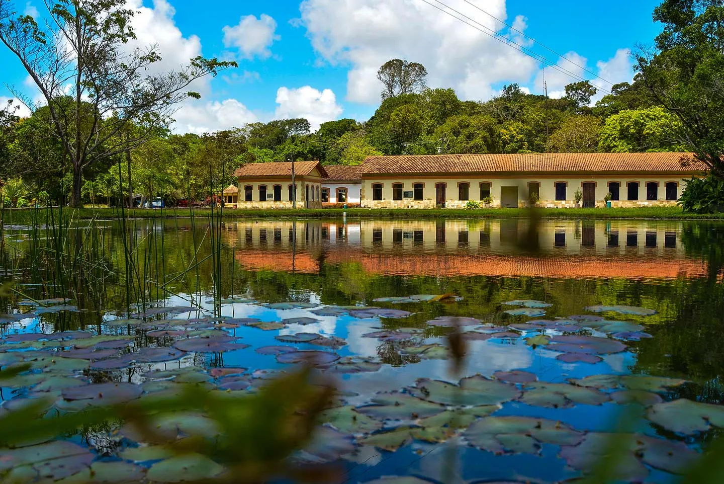
[[[688,166],[682,167],[682,162]],[[436,154],[367,157],[364,174],[447,172],[681,172],[707,167],[690,153]]]

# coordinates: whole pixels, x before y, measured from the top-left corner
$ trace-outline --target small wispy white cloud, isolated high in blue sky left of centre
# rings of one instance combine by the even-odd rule
[[[271,44],[281,38],[275,32],[277,22],[267,14],[259,18],[254,15],[241,17],[239,23],[233,27],[224,28],[224,46],[236,47],[244,59],[267,59],[271,56]]]

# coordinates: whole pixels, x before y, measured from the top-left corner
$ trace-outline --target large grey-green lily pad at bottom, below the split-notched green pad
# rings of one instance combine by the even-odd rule
[[[463,434],[484,451],[502,454],[537,454],[541,443],[573,446],[584,433],[555,420],[534,417],[485,417],[473,422]]]

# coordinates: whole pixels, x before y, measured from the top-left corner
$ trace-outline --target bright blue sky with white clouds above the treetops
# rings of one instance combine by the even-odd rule
[[[35,13],[40,0],[17,5]],[[314,126],[326,120],[366,120],[379,104],[376,68],[400,57],[421,62],[429,85],[452,87],[463,99],[484,100],[506,83],[533,93],[560,96],[575,79],[542,64],[424,0],[127,0],[138,8],[134,20],[138,45],[157,43],[172,69],[190,57],[235,59],[239,68],[204,80],[201,101],[185,103],[177,113],[177,131],[204,132],[267,121],[308,117]],[[604,88],[631,80],[630,50],[651,44],[660,31],[652,22],[659,0],[427,0],[467,15],[551,62]],[[442,2],[442,3],[439,3]],[[568,62],[520,36],[481,10],[514,25],[570,59]],[[42,15],[42,10],[40,12]],[[33,96],[26,73],[6,49],[0,49],[0,75]],[[599,75],[594,78],[581,67]],[[11,96],[2,89],[0,96]]]

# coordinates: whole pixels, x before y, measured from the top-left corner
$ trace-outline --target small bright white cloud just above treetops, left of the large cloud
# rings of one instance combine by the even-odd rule
[[[304,117],[316,131],[326,121],[336,120],[342,114],[337,96],[332,89],[319,91],[309,85],[301,88],[281,87],[277,90],[277,119]]]

